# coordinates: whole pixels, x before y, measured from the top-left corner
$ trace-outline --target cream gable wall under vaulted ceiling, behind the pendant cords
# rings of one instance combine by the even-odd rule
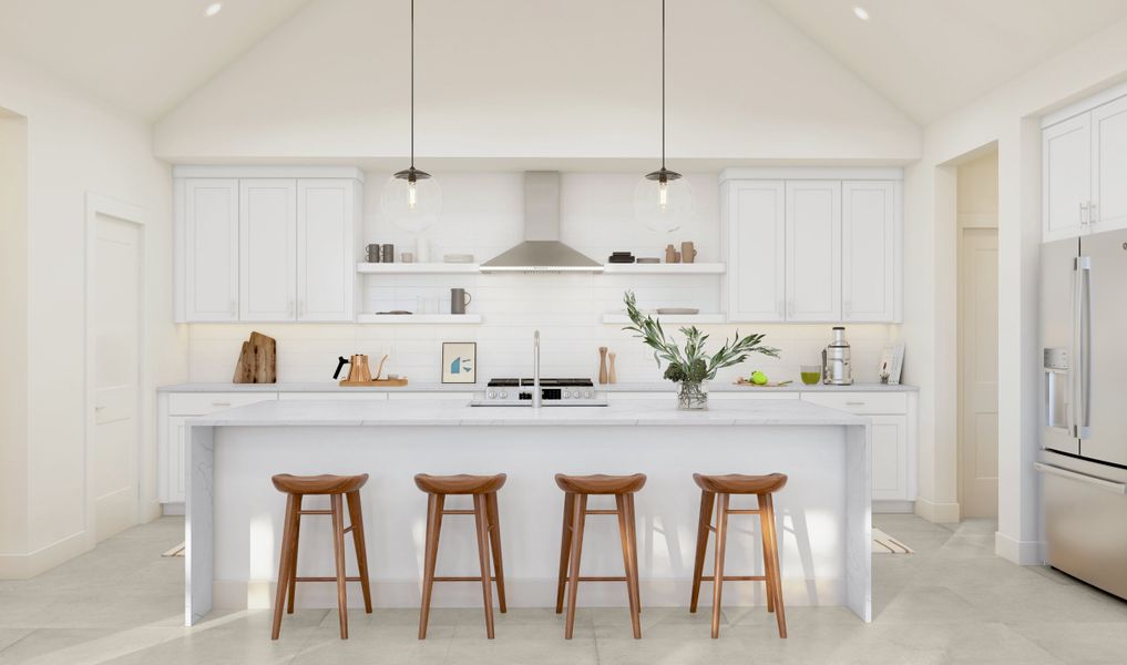
[[[309,3],[162,118],[157,153],[177,162],[401,158],[408,7]],[[654,159],[658,8],[419,2],[417,153],[432,168],[442,158]],[[762,0],[671,2],[668,12],[674,161],[920,156],[915,123]]]

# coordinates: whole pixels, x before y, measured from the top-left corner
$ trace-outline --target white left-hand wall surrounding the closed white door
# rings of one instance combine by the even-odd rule
[[[16,509],[26,538],[16,543],[0,538],[15,544],[0,549],[0,577],[7,577],[33,575],[92,546],[83,447],[88,193],[148,214],[149,388],[184,378],[185,333],[171,323],[171,181],[168,166],[152,154],[151,127],[11,59],[0,59],[0,107],[27,118],[27,260],[21,271],[29,294],[27,338],[15,346],[5,340],[6,353],[28,362],[23,387],[27,433],[2,444],[26,456],[19,475],[27,493]],[[154,433],[145,434],[145,445],[153,445]],[[143,471],[144,514],[153,515],[154,469]],[[0,532],[20,527],[2,523]]]

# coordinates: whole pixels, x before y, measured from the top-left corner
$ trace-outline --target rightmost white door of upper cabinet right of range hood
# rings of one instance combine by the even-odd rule
[[[842,183],[842,320],[899,320],[899,185]]]

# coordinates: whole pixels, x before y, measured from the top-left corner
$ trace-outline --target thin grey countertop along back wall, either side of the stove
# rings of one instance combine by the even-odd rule
[[[780,388],[751,388],[733,383],[712,382],[709,392],[915,392],[915,385],[887,385],[884,383],[854,383],[853,385],[805,385],[796,381]],[[657,383],[607,383],[595,388],[607,392],[676,392],[676,385],[668,381]],[[319,383],[176,383],[161,385],[158,392],[472,392],[485,390],[486,382],[478,383],[409,383],[401,388],[348,387],[336,382]]]

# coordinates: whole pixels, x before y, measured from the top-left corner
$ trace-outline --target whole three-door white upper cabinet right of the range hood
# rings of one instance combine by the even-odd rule
[[[899,169],[721,174],[725,300],[735,322],[899,322]]]

